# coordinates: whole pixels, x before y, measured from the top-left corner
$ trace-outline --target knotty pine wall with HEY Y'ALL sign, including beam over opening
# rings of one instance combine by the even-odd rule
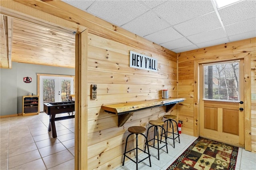
[[[87,92],[87,103],[82,103],[83,108],[88,108],[80,113],[81,117],[88,118],[87,122],[81,122],[86,128],[79,129],[79,133],[87,134],[88,161],[81,160],[83,169],[112,169],[122,164],[124,142],[129,134],[127,128],[130,126],[148,127],[148,121],[162,119],[163,115],[172,113],[177,115],[177,107],[169,113],[165,107],[154,107],[136,111],[123,127],[118,127],[118,116],[104,112],[101,106],[112,103],[124,103],[130,101],[144,101],[159,99],[162,97],[162,89],[169,90],[169,97],[177,97],[177,54],[138,37],[135,34],[118,28],[100,18],[92,16],[82,10],[72,7],[62,1],[1,1],[1,8],[10,8],[10,12],[24,13],[41,20],[51,21],[52,16],[59,18],[58,21],[68,20],[68,26],[84,26],[88,28],[88,46],[86,51],[88,57],[87,66],[76,65],[87,70],[87,75],[80,75],[83,81],[87,79],[84,87]],[[27,9],[29,8],[29,9]],[[25,10],[27,9],[27,10]],[[37,16],[36,11],[44,11],[44,15]],[[7,11],[8,13],[8,11]],[[50,14],[50,15],[48,15]],[[31,17],[31,18],[33,18]],[[65,22],[60,22],[61,24]],[[64,26],[65,27],[65,26]],[[81,32],[80,29],[77,29]],[[77,47],[78,48],[78,47]],[[158,72],[134,69],[129,67],[129,51],[136,51],[158,60]],[[86,72],[86,71],[84,71]],[[76,72],[77,73],[77,72]],[[80,78],[79,78],[80,79]],[[90,85],[97,84],[97,99],[90,99]],[[84,93],[83,93],[84,94]],[[82,101],[83,102],[83,101]],[[87,104],[87,105],[86,105]],[[79,116],[79,115],[78,115]],[[76,138],[76,141],[78,138]],[[80,142],[80,141],[79,141]],[[85,143],[82,141],[82,143]],[[144,145],[144,139],[139,138],[140,147]],[[132,138],[129,139],[128,147],[134,146]],[[85,150],[78,151],[80,153]],[[76,154],[77,155],[77,154]],[[82,158],[82,156],[81,156]],[[86,158],[86,156],[84,156]],[[78,159],[76,157],[76,159]],[[87,163],[88,162],[88,163]]]

